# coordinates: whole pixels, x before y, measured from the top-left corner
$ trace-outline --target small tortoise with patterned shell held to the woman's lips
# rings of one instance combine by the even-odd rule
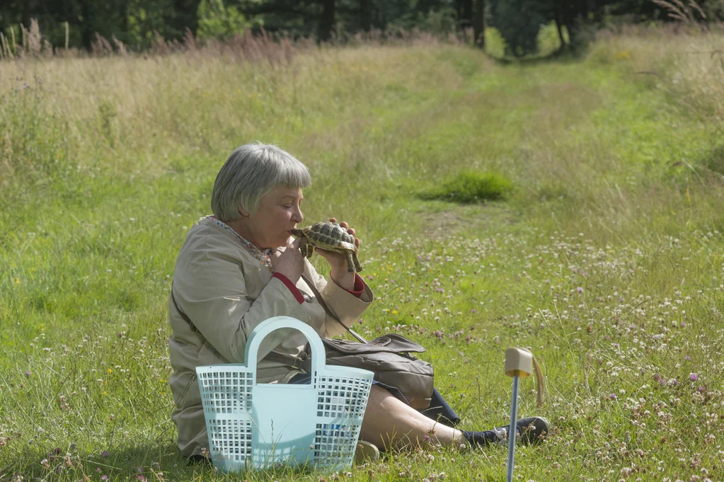
[[[359,248],[355,245],[355,237],[339,223],[322,221],[304,229],[292,229],[292,234],[301,238],[299,250],[306,258],[311,258],[315,247],[334,251],[347,257],[347,271],[362,271],[357,259]]]

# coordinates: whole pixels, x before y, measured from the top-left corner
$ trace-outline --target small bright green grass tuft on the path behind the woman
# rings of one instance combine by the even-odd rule
[[[421,194],[423,199],[442,199],[455,203],[479,203],[502,200],[508,196],[513,183],[505,176],[492,172],[461,172],[443,182],[440,187]]]

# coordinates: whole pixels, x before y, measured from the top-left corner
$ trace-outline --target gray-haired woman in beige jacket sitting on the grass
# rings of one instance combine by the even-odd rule
[[[298,318],[321,337],[345,331],[327,316],[302,274],[346,326],[352,326],[373,300],[361,277],[348,271],[344,255],[317,250],[329,263],[325,279],[300,253],[300,240],[292,240],[292,229],[304,219],[302,189],[310,183],[306,166],[289,153],[274,145],[242,145],[216,176],[211,195],[214,215],[199,220],[186,236],[169,300],[169,350],[174,368],[169,384],[178,446],[189,460],[201,460],[209,447],[195,377],[198,365],[243,363],[248,335],[273,316]],[[355,234],[347,223],[340,225]],[[355,243],[359,245],[358,238]],[[306,344],[303,334],[290,329],[266,337],[259,350],[265,358],[258,363],[258,381],[283,384],[303,380],[303,370],[269,354],[297,357],[305,352]],[[372,386],[361,428],[361,439],[376,447],[430,441],[455,447],[484,446],[505,438],[502,428],[461,432],[437,423],[395,397],[390,388]],[[523,439],[535,441],[548,425],[542,418],[529,418],[519,420],[518,428]]]

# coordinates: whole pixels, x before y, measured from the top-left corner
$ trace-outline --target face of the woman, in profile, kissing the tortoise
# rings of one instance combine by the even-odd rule
[[[257,248],[286,246],[291,230],[304,219],[300,209],[303,199],[300,187],[275,187],[261,198],[258,211],[249,216],[242,235]]]

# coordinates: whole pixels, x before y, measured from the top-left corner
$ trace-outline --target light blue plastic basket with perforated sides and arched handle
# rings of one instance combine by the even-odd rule
[[[257,384],[261,341],[272,331],[301,331],[311,347],[311,383]],[[196,368],[209,452],[219,470],[352,465],[373,373],[325,365],[324,344],[311,326],[269,318],[249,335],[247,363]]]

